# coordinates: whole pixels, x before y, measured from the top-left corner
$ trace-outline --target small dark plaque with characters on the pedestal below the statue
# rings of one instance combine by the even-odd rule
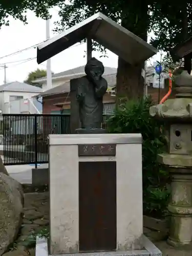
[[[80,144],[78,156],[115,156],[116,144]]]

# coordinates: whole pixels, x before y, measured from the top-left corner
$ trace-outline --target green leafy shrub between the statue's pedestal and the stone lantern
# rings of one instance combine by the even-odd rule
[[[159,217],[166,211],[168,174],[157,162],[157,155],[164,151],[166,142],[162,134],[163,124],[150,116],[152,105],[150,98],[122,103],[107,125],[110,133],[142,134],[144,213]]]

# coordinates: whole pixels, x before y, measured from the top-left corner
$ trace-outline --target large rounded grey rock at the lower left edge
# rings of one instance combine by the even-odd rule
[[[13,243],[22,224],[23,201],[20,183],[0,173],[0,255]]]

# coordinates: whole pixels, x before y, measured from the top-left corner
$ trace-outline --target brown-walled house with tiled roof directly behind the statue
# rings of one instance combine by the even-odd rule
[[[108,92],[103,97],[104,114],[111,113],[115,106],[115,97],[111,89],[116,85],[116,68],[105,67],[103,77],[108,81]],[[57,114],[61,108],[63,114],[70,113],[70,80],[84,76],[84,66],[63,71],[52,75],[52,88],[46,90],[47,77],[34,80],[42,85],[42,92],[38,97],[42,97],[42,113]]]

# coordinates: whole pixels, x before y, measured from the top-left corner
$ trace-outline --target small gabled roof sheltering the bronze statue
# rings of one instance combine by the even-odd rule
[[[37,63],[44,62],[88,37],[131,65],[142,63],[158,52],[146,41],[98,12],[40,44],[37,47]],[[64,59],[63,61],[68,60]]]

